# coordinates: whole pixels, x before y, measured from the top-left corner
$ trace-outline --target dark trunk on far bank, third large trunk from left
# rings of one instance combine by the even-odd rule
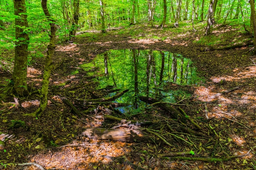
[[[79,1],[80,0],[74,0],[74,15],[73,15],[73,21],[70,31],[70,41],[74,41],[76,30],[78,28],[78,21],[79,21]]]

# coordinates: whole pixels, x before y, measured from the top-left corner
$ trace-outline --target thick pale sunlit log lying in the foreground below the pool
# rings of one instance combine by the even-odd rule
[[[82,135],[90,139],[99,139],[99,140],[114,140],[120,142],[139,142],[143,141],[144,137],[137,135],[132,130],[128,129],[100,129],[100,128],[91,128],[83,131]]]

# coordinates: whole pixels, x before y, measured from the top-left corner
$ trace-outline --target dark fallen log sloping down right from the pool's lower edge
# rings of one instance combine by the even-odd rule
[[[186,118],[182,114],[180,114],[179,111],[171,107],[170,105],[161,102],[160,100],[157,100],[155,98],[149,98],[144,96],[139,96],[139,100],[144,101],[149,104],[157,103],[156,105],[164,109],[165,111],[168,111],[170,113],[171,118],[173,119],[180,119],[183,123],[186,123]]]

